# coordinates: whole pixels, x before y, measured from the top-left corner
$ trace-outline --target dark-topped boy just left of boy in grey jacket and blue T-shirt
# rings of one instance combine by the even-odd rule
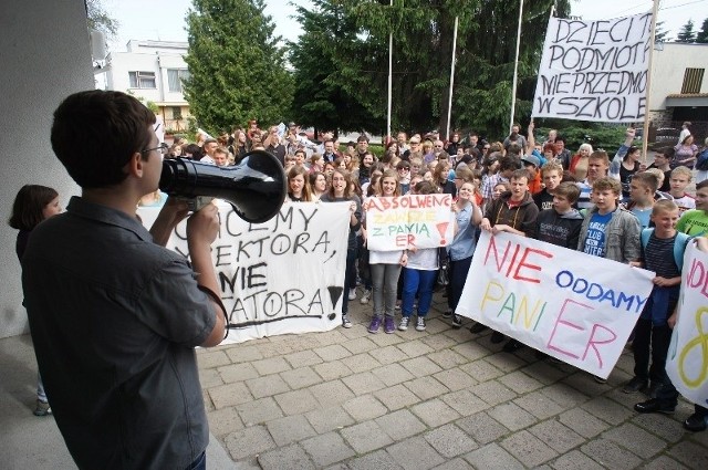
[[[583,216],[573,209],[580,189],[573,182],[561,182],[553,191],[553,208],[539,212],[535,239],[575,250]]]

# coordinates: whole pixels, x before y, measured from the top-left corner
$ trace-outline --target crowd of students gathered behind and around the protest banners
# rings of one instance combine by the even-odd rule
[[[452,134],[446,143],[437,135],[408,138],[399,133],[377,157],[364,135],[341,152],[331,134],[317,145],[292,123],[282,136],[275,126],[261,133],[250,123],[248,129],[231,136],[177,143],[166,157],[230,165],[249,150],[263,149],[284,167],[285,203],[348,201],[342,309],[342,325],[347,328],[352,326],[348,302],[357,299],[361,284],[360,302],[373,304],[369,333],[378,333],[382,326],[387,334],[396,328],[406,331],[414,312],[415,330],[425,331],[438,281],[446,284],[448,311],[444,316],[454,327],[461,327],[462,317],[455,311],[481,230],[530,237],[656,272],[652,296],[635,330],[635,377],[623,389],[649,396],[648,401],[635,406],[639,412],[673,411],[678,393],[664,368],[676,321],[681,254],[689,238],[708,247],[708,181],[698,182],[695,195],[687,192],[693,166],[701,158],[699,149],[693,156],[681,153],[688,142],[684,137],[676,147],[656,149],[654,163],[647,167],[645,156],[634,146],[632,128],[612,159],[589,144],[571,155],[555,130],[539,143],[533,124],[525,136],[514,126],[503,142],[488,143],[475,133],[460,137]],[[365,208],[371,198],[435,192],[449,194],[455,201],[455,236],[446,250],[367,249]],[[29,226],[13,227],[31,230]],[[397,310],[400,320],[396,326]],[[472,334],[485,330],[481,323],[470,327]],[[499,332],[492,332],[491,342],[504,342],[507,352],[524,346]],[[544,355],[539,353],[539,357]],[[685,426],[702,430],[707,424],[708,410],[697,405]]]

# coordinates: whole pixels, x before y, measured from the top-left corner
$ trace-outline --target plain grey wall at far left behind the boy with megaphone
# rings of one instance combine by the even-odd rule
[[[12,201],[27,184],[53,187],[63,206],[79,194],[52,153],[50,129],[60,102],[94,88],[94,79],[83,0],[2,0],[0,30],[0,337],[8,337],[28,332],[14,252],[17,231],[7,224]]]

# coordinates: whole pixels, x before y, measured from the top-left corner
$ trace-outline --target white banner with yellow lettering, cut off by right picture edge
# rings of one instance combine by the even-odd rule
[[[678,391],[708,406],[708,254],[688,243],[684,255],[678,321],[666,373]]]

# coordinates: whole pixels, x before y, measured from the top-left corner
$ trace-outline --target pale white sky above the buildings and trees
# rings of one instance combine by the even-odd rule
[[[291,18],[294,4],[309,7],[310,0],[264,0],[266,14],[275,24],[275,34],[295,41],[302,33],[300,24]],[[118,36],[110,43],[110,50],[125,51],[131,39],[187,41],[185,15],[190,0],[103,0],[104,8],[118,21]],[[571,13],[584,20],[613,19],[652,10],[650,0],[571,0]],[[708,0],[660,0],[657,21],[664,21],[669,38],[675,38],[681,25],[694,20],[699,30],[708,18]]]

